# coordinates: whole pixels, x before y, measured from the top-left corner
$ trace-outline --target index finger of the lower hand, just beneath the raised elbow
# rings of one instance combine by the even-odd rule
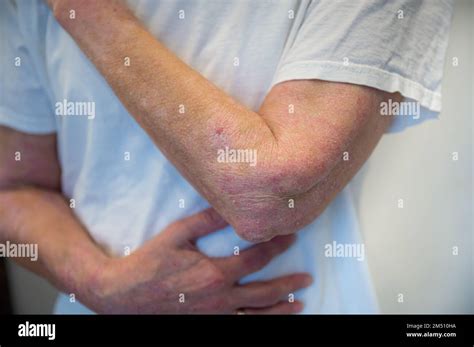
[[[238,281],[245,275],[256,272],[267,265],[278,254],[287,250],[296,240],[294,235],[278,236],[271,241],[260,243],[239,255],[216,259],[216,264],[232,281]]]

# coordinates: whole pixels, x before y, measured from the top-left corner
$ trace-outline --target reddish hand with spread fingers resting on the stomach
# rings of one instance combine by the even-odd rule
[[[289,314],[301,311],[288,294],[308,286],[311,277],[293,274],[238,285],[285,251],[294,236],[282,236],[240,252],[210,258],[197,238],[226,226],[213,209],[177,221],[136,252],[111,259],[97,280],[95,297],[85,301],[98,313]]]

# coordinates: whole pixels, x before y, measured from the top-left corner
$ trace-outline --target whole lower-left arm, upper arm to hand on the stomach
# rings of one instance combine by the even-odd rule
[[[238,285],[294,238],[274,238],[238,256],[210,258],[195,242],[227,225],[212,209],[171,224],[127,257],[106,254],[60,192],[55,141],[55,135],[0,127],[0,243],[37,244],[39,250],[38,261],[15,259],[21,265],[98,313],[301,311],[302,304],[287,297],[311,283],[307,274]],[[21,152],[21,161],[13,159],[15,152]]]

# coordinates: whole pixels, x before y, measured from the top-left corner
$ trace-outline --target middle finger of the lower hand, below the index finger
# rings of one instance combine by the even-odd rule
[[[271,281],[252,282],[236,286],[232,292],[237,307],[267,307],[287,301],[288,295],[308,287],[312,278],[308,274],[283,276]]]

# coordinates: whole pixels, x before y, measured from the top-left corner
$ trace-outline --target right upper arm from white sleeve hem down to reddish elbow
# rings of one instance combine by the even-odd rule
[[[247,193],[253,206],[239,215],[237,233],[262,241],[312,222],[357,173],[389,126],[390,117],[379,112],[380,103],[389,98],[399,101],[401,96],[334,82],[276,85],[259,114],[277,145],[263,163],[259,158],[258,184]]]

